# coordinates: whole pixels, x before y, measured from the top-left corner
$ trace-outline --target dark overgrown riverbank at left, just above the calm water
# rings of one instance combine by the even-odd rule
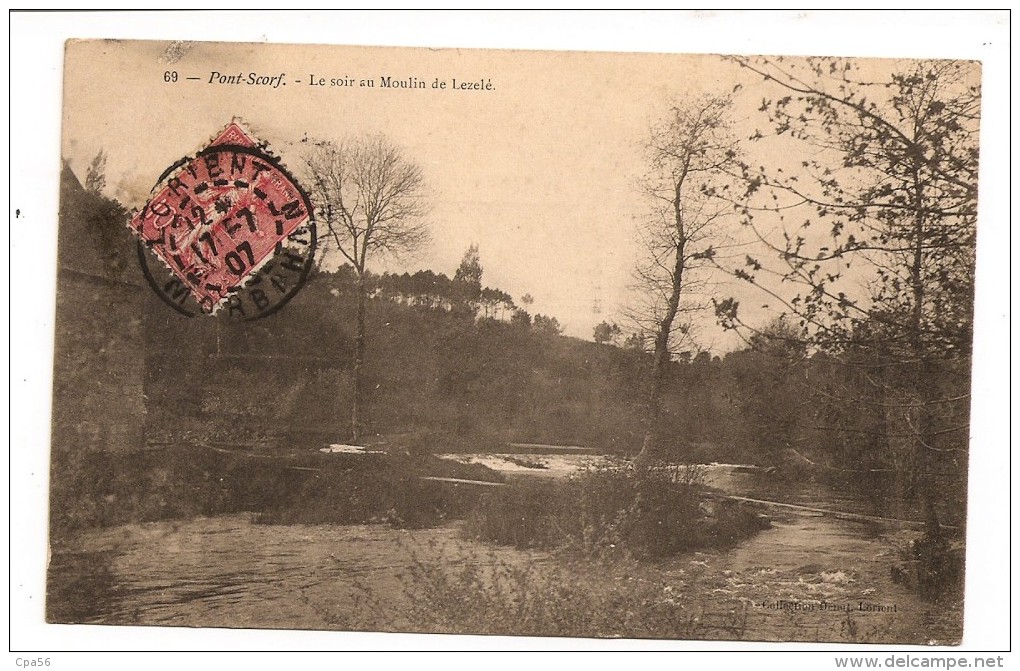
[[[51,533],[252,512],[264,523],[369,521],[420,527],[463,516],[478,485],[500,481],[480,464],[429,455],[253,455],[201,446],[65,454],[52,465]]]

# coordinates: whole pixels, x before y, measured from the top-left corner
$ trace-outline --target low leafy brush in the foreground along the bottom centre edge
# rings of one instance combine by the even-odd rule
[[[413,553],[399,602],[363,582],[344,609],[315,607],[341,629],[628,638],[743,638],[744,604],[708,611],[633,560],[568,561],[430,545]],[[398,605],[399,604],[399,605]]]

